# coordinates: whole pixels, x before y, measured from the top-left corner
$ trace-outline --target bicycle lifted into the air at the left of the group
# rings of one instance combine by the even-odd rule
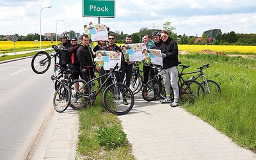
[[[37,52],[32,60],[31,60],[31,68],[36,74],[44,74],[51,65],[51,59],[54,58],[54,72],[57,68],[55,68],[57,57],[59,58],[58,52],[60,50],[66,50],[66,49],[60,49],[56,45],[52,45],[52,48],[54,49],[54,54],[49,54],[45,51]]]

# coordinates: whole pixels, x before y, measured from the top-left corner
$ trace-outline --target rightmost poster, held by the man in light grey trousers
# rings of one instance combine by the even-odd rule
[[[161,65],[163,67],[163,58],[160,49],[143,49],[145,63]]]

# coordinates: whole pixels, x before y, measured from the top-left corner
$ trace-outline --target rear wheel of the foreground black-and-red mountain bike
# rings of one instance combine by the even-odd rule
[[[91,93],[90,85],[85,85],[86,81],[83,79],[75,79],[69,85],[71,92],[71,99],[69,106],[73,109],[80,109],[87,105],[87,99]]]

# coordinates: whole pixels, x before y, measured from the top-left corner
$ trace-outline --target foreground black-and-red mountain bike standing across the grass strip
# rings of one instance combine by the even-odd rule
[[[70,104],[77,106],[79,108],[83,108],[88,105],[88,103],[92,104],[95,102],[97,95],[99,95],[99,92],[106,86],[106,83],[109,83],[109,81],[112,82],[103,93],[103,103],[104,108],[106,108],[110,113],[113,113],[115,115],[125,115],[131,111],[132,107],[134,106],[134,94],[132,93],[132,90],[122,83],[117,83],[116,76],[114,70],[118,68],[118,63],[114,68],[110,68],[109,72],[96,77],[94,79],[91,79],[90,81],[86,82],[82,79],[76,79],[74,80],[70,85],[72,86],[74,83],[79,82],[79,90],[72,93],[72,96],[74,97],[74,100],[70,102]],[[91,86],[94,81],[97,81],[97,79],[100,79],[102,77],[106,76],[105,81],[100,84],[100,87],[97,89],[97,91],[93,91]],[[124,104],[124,100],[127,100],[128,105]]]

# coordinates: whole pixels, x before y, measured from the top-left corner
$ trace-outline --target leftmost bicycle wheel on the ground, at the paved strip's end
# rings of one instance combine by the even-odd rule
[[[71,93],[68,86],[59,87],[53,96],[53,106],[58,112],[63,112],[68,108],[70,102]]]

